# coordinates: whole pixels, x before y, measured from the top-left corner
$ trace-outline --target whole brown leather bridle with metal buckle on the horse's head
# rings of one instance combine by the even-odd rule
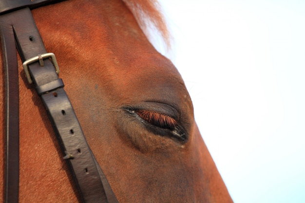
[[[5,203],[19,200],[19,83],[16,47],[29,83],[48,112],[50,121],[85,203],[117,203],[104,173],[95,160],[58,78],[53,53],[47,53],[30,8],[58,0],[0,0],[0,36],[5,69],[6,168]]]

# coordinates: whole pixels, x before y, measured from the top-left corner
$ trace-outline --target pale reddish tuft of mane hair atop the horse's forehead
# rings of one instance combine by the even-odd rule
[[[161,6],[157,0],[122,0],[133,13],[148,38],[151,38],[151,31],[157,31],[163,39],[165,46],[171,48],[171,36],[161,12]]]

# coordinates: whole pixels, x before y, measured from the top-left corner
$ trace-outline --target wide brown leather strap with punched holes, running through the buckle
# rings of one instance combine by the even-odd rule
[[[15,35],[22,61],[46,53],[29,8],[5,14],[0,17],[0,20],[2,33],[10,31],[10,37]],[[12,30],[14,35],[12,35]],[[2,39],[3,47],[8,46],[6,45],[8,41],[11,42],[9,46],[12,49],[13,42],[11,39]],[[12,52],[14,51],[10,50],[10,53]],[[10,57],[10,55],[5,54],[4,60],[16,60],[16,53],[14,59]],[[43,66],[41,66],[41,63],[43,63]],[[86,142],[73,107],[63,90],[63,82],[58,78],[53,63],[48,58],[44,59],[43,62],[32,62],[28,64],[28,70],[48,112],[60,146],[65,152],[64,159],[70,166],[83,201],[85,203],[117,203],[108,181]],[[10,184],[10,180],[7,180],[7,185]],[[16,195],[18,191],[8,191],[8,194],[10,193]]]

